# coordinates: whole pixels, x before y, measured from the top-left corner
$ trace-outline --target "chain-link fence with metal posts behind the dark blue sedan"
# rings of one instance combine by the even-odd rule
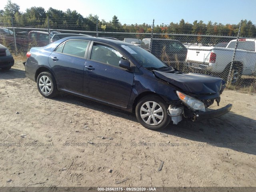
[[[242,24],[242,22],[241,22]],[[14,54],[46,46],[67,36],[94,36],[140,46],[184,73],[223,78],[232,88],[256,90],[256,39],[237,36],[154,33],[154,22],[145,32],[120,32],[115,26],[79,20],[0,20],[0,44]]]

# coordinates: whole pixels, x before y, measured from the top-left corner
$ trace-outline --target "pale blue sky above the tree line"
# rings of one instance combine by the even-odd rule
[[[76,10],[82,16],[98,15],[99,20],[112,20],[116,15],[121,24],[179,23],[181,19],[193,23],[202,20],[222,24],[238,24],[241,19],[256,24],[256,0],[11,0],[20,6],[20,11],[32,6],[52,7],[66,11]],[[7,0],[1,0],[0,10]]]

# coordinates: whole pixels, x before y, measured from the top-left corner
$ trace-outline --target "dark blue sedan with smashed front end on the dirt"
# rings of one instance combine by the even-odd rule
[[[221,78],[183,74],[148,51],[122,41],[67,37],[31,48],[24,63],[26,76],[46,98],[65,92],[129,112],[146,128],[160,129],[184,117],[215,118],[230,111],[219,104],[225,88]]]

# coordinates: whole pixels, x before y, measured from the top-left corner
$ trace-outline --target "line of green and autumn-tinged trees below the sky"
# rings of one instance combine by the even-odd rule
[[[67,9],[66,11],[54,9],[50,7],[45,10],[42,7],[27,8],[25,12],[20,12],[20,6],[7,1],[4,10],[0,10],[0,25],[12,25],[17,27],[34,28],[50,28],[70,29],[70,30],[88,30],[96,31],[116,31],[130,33],[151,33],[152,24],[121,24],[117,16],[113,16],[112,20],[99,20],[97,15],[89,14],[84,17],[76,10]],[[49,22],[49,23],[48,23]],[[2,24],[1,24],[2,23]],[[97,25],[98,24],[98,25]],[[198,34],[198,35],[221,35],[221,36],[237,36],[240,23],[238,24],[221,24],[209,21],[205,24],[202,20],[195,20],[192,24],[181,19],[179,23],[170,22],[170,24],[160,24],[154,26],[154,33],[160,34]],[[241,26],[241,36],[256,37],[256,26],[252,21],[243,20]]]

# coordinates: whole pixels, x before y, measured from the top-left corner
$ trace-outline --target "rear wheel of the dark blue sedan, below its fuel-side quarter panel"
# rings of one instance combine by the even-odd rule
[[[58,95],[57,84],[49,72],[42,72],[37,77],[37,88],[40,94],[46,98],[53,98]]]

